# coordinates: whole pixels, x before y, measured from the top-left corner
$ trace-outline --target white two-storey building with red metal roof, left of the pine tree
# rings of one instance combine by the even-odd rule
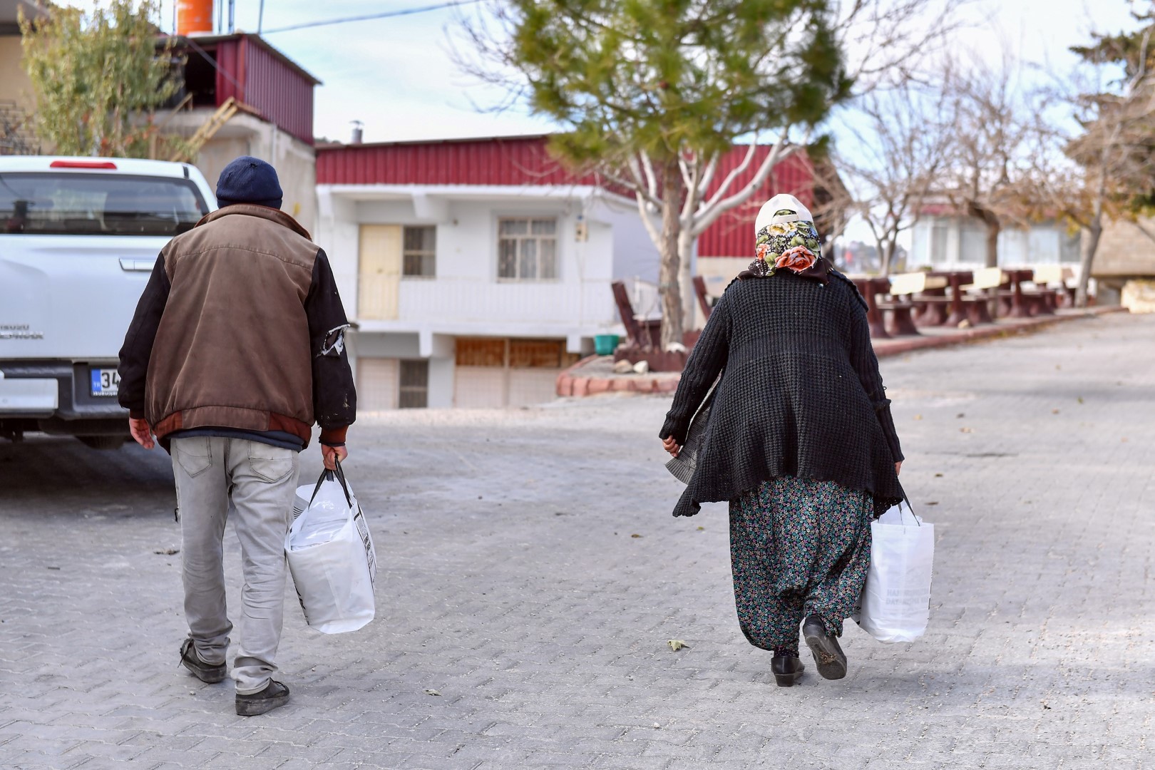
[[[316,241],[357,330],[364,411],[550,401],[623,334],[610,284],[656,281],[635,202],[545,137],[318,148]]]

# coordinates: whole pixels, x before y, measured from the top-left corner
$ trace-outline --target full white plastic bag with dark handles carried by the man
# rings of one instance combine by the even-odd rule
[[[373,620],[377,553],[340,463],[315,486],[297,487],[285,558],[310,626],[341,634]]]

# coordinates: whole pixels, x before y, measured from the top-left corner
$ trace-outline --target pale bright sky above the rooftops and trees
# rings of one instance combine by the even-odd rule
[[[263,30],[275,30],[441,1],[264,0],[260,21]],[[260,0],[237,0],[238,30],[256,31],[260,5]],[[172,28],[172,0],[164,0],[162,27],[166,30]],[[998,58],[1001,40],[1021,59],[1061,72],[1073,62],[1067,46],[1086,42],[1091,30],[1132,27],[1128,7],[1127,0],[971,0],[963,13],[967,28],[951,44]],[[463,74],[452,55],[456,18],[474,8],[274,31],[266,39],[323,82],[316,90],[318,136],[348,141],[353,120],[364,122],[366,142],[528,134],[556,128],[524,109],[500,114],[484,110],[500,104],[504,94]]]

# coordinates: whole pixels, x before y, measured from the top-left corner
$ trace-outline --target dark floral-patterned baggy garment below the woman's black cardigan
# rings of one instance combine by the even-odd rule
[[[730,561],[743,634],[775,655],[798,655],[808,615],[842,635],[870,567],[866,492],[784,476],[730,502]]]

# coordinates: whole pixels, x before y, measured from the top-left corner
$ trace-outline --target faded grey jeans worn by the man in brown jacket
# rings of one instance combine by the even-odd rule
[[[277,670],[284,616],[284,540],[297,488],[298,457],[244,439],[173,439],[172,472],[180,509],[185,616],[204,663],[224,663],[232,623],[225,612],[225,521],[234,516],[245,584],[232,678],[259,693]]]

